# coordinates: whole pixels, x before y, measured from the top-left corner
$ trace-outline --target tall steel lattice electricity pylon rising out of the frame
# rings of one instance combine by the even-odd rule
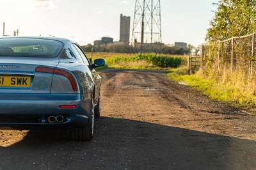
[[[161,6],[160,0],[136,0],[132,28],[132,43],[134,47],[140,44],[150,44],[150,52],[154,45],[161,45]]]

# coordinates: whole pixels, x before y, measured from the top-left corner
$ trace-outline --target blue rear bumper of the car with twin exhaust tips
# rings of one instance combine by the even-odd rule
[[[4,94],[0,93],[0,127],[16,129],[82,128],[88,122],[91,93],[84,94]],[[76,105],[60,109],[60,105]],[[49,123],[49,116],[63,121]]]

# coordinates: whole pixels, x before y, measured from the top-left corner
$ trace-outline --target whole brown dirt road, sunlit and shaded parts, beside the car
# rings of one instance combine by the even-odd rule
[[[104,70],[90,142],[0,131],[0,169],[256,169],[256,117],[208,101],[161,71]]]

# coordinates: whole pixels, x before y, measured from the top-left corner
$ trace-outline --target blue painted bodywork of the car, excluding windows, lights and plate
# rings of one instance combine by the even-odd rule
[[[52,58],[49,55],[47,58],[21,57],[17,56],[19,53],[13,54],[14,56],[3,56],[3,54],[1,56],[0,52],[0,127],[18,129],[85,127],[90,111],[93,105],[97,104],[100,96],[101,77],[88,63],[85,54],[79,51],[81,56],[77,56],[78,53],[74,51],[72,45],[77,45],[77,50],[80,49],[79,45],[65,38],[1,37],[0,48],[1,40],[9,38],[20,41],[26,38],[45,40],[45,42],[58,41],[63,43],[63,49],[57,57]],[[4,47],[6,46],[2,48]],[[33,47],[33,50],[38,49],[40,45]],[[14,48],[13,50],[15,52]],[[43,69],[37,70],[37,68]],[[56,70],[61,73],[57,73]],[[30,77],[31,84],[26,88],[1,87],[1,77],[4,76]],[[77,86],[77,89],[74,86]],[[63,109],[60,106],[75,108]],[[51,123],[49,116],[63,116],[63,121]]]

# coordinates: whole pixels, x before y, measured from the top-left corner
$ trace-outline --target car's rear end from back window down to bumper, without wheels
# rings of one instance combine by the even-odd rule
[[[0,38],[0,127],[81,128],[92,101],[70,70],[58,68],[65,44]]]

